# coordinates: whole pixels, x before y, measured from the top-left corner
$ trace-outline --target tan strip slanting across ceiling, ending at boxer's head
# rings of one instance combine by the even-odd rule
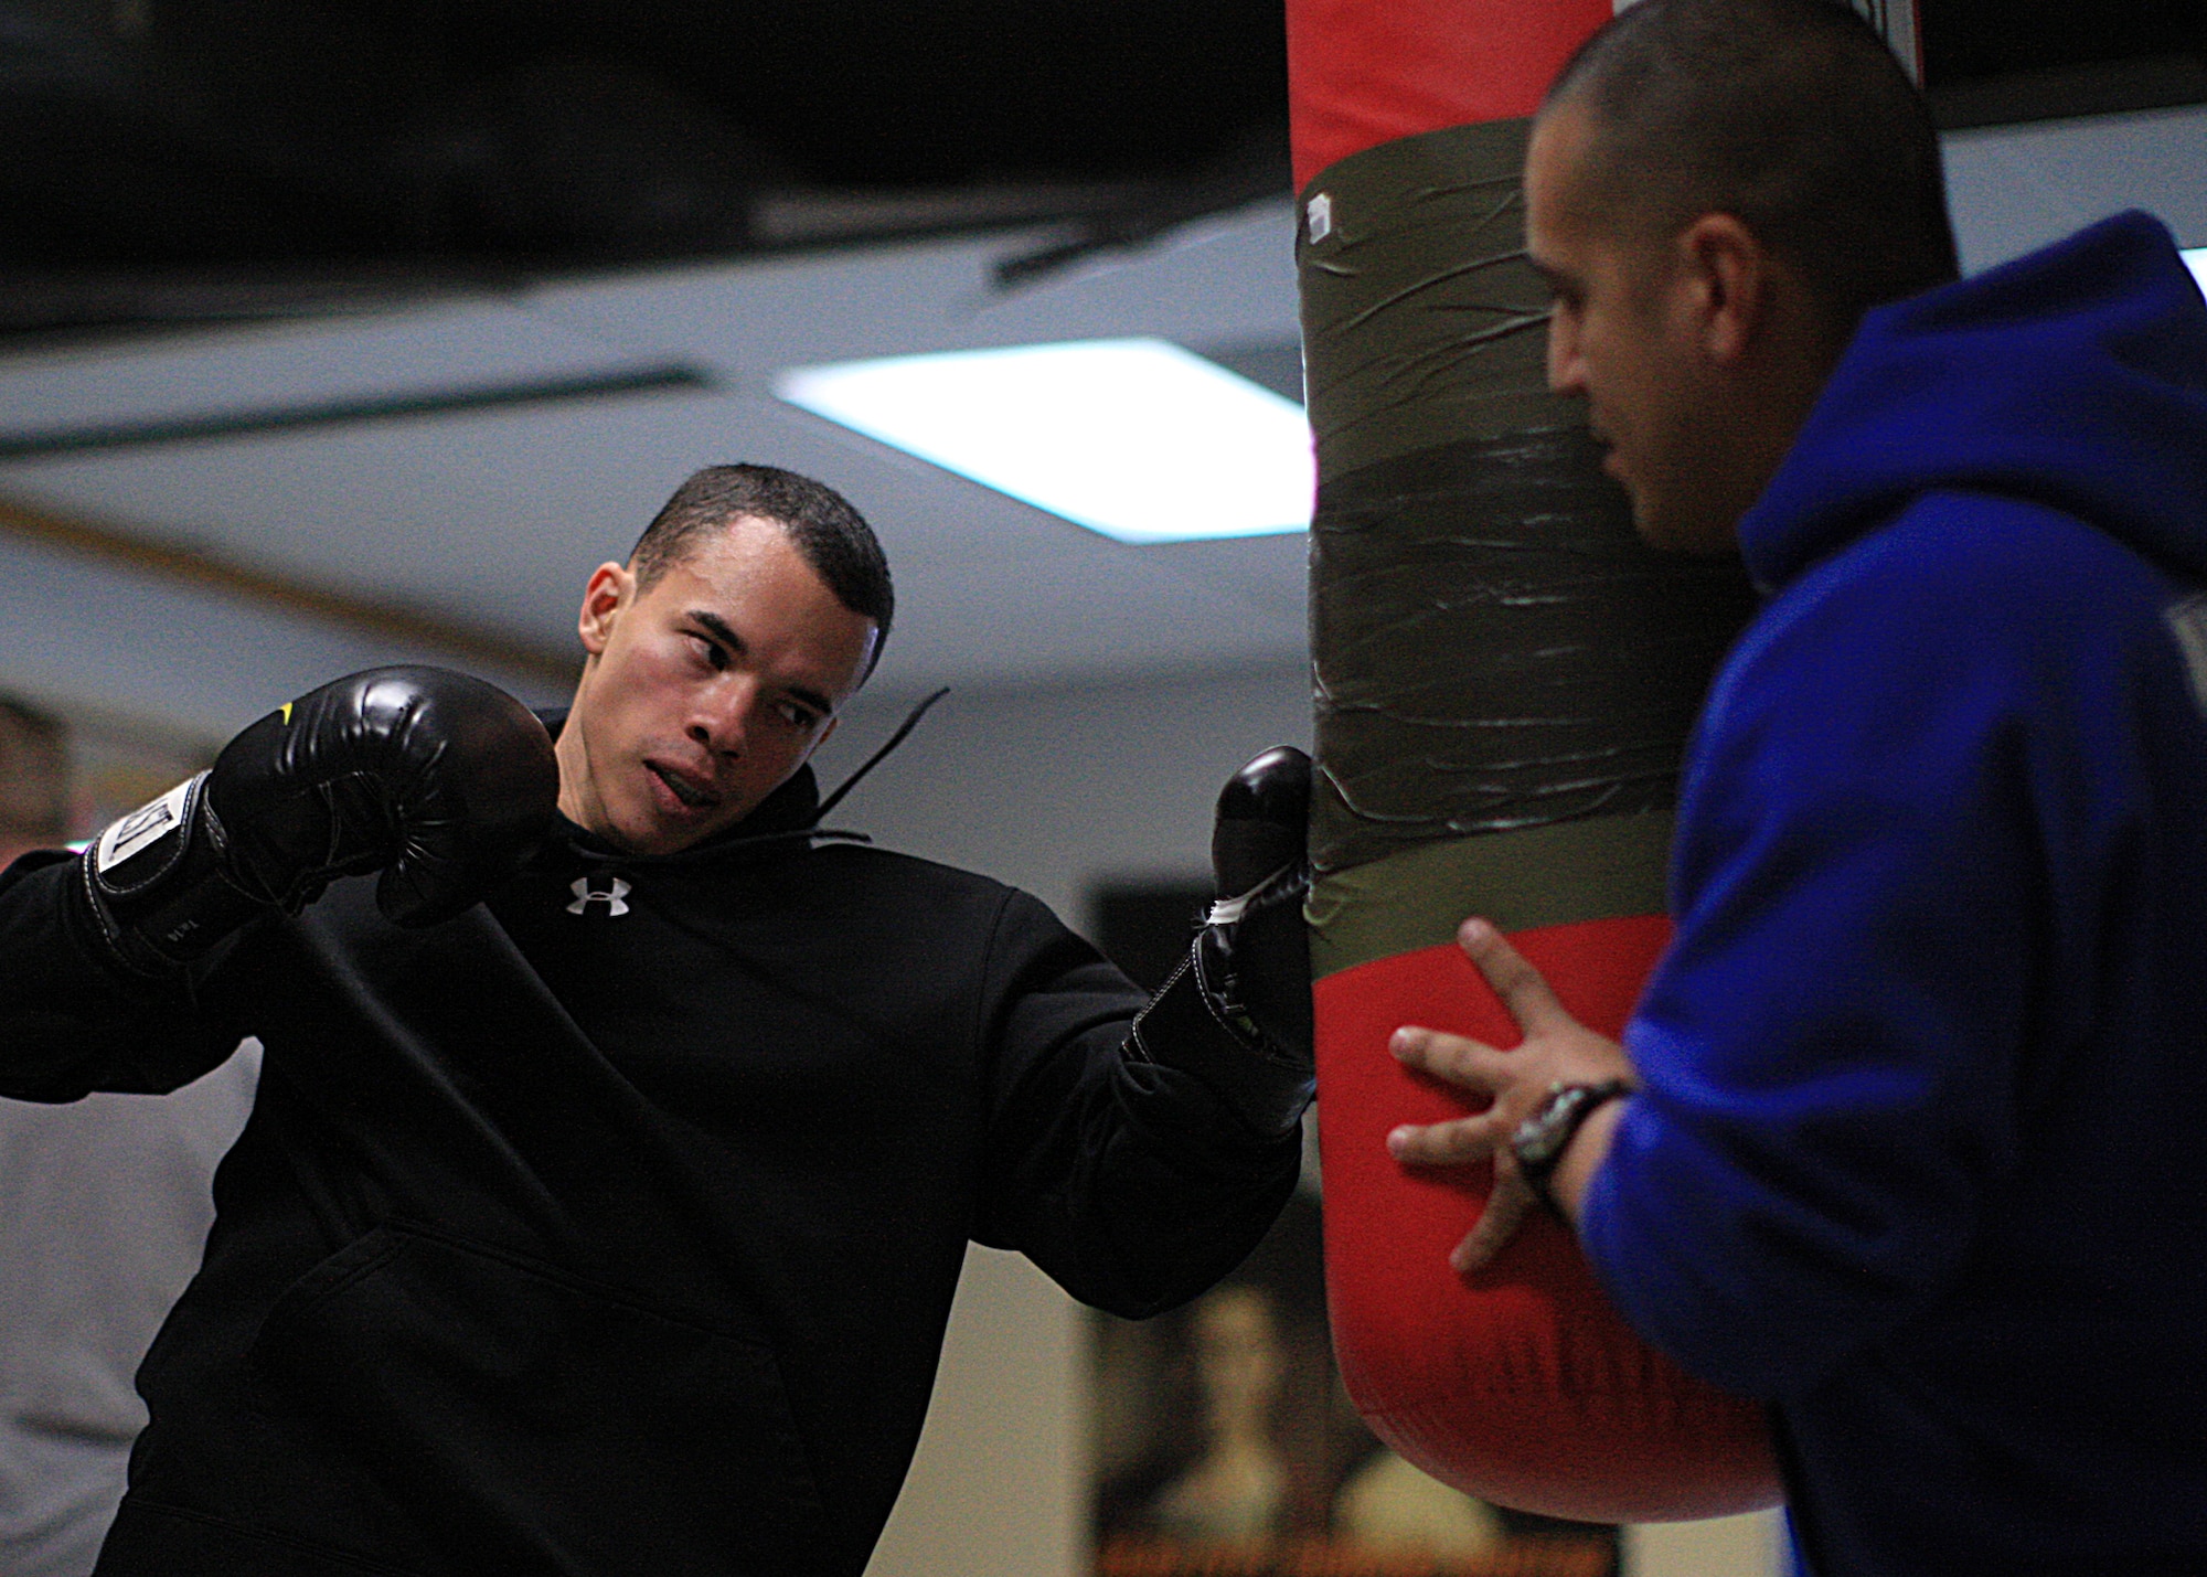
[[[0,497],[0,530],[26,541],[66,552],[104,559],[126,570],[179,581],[258,603],[294,618],[342,625],[362,634],[433,645],[457,658],[505,667],[519,674],[572,685],[578,671],[574,656],[541,647],[534,641],[481,629],[433,614],[391,607],[351,592],[309,585],[267,570],[230,563],[207,552],[172,548],[141,537],[68,519]]]

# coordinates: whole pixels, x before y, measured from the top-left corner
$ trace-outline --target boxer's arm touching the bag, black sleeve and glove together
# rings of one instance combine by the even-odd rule
[[[1132,1025],[1123,976],[1031,899],[1035,914],[1013,906],[991,950],[1015,963],[991,996],[998,1089],[975,1237],[1026,1250],[1088,1303],[1139,1316],[1196,1296],[1296,1184],[1313,1089],[1309,784],[1309,758],[1278,749],[1220,793],[1218,903]]]

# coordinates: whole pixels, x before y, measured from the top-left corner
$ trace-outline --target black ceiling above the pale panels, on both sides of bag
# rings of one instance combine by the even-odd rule
[[[2207,97],[2203,0],[1918,9],[1953,124]],[[1282,0],[0,0],[0,334],[1141,239],[1287,188],[1282,33]]]

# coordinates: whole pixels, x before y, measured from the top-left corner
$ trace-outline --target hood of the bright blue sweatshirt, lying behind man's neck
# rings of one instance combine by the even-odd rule
[[[1766,592],[1911,497],[2048,504],[2207,581],[2207,300],[2128,212],[1863,318],[1739,523]]]

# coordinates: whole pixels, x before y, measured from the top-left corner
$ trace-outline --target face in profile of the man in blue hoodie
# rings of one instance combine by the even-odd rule
[[[1525,157],[1525,250],[1554,292],[1547,382],[1587,398],[1633,523],[1657,548],[1732,546],[1737,508],[1719,484],[1721,415],[1695,356],[1691,281],[1666,236],[1611,221],[1587,181],[1593,137],[1569,102],[1534,126]]]

